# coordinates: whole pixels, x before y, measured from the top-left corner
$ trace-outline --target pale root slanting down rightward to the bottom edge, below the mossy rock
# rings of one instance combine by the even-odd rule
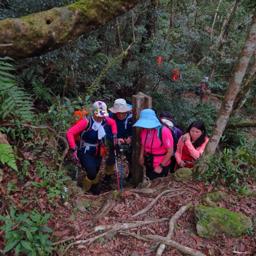
[[[137,239],[144,240],[144,241],[156,241],[160,243],[164,243],[166,245],[172,246],[176,248],[177,250],[180,250],[181,252],[192,255],[192,256],[206,256],[204,253],[199,252],[198,250],[191,249],[189,247],[186,247],[182,244],[178,244],[177,242],[166,239],[163,236],[157,236],[157,235],[144,235],[144,236],[139,236],[135,233],[130,233],[126,231],[119,232],[121,235],[126,235],[126,236],[134,236]]]

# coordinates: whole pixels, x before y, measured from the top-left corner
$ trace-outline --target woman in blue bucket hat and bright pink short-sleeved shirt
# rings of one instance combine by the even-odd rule
[[[155,112],[144,109],[139,120],[133,125],[142,127],[140,134],[140,165],[146,166],[146,176],[149,180],[165,177],[168,174],[173,153],[172,132],[165,126],[162,129],[162,141],[159,138],[161,123]]]

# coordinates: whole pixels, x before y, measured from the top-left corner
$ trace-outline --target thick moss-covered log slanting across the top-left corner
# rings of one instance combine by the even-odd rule
[[[0,21],[0,56],[40,56],[101,28],[140,0],[83,0],[19,19]]]

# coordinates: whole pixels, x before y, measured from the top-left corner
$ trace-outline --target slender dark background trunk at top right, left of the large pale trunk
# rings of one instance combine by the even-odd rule
[[[221,54],[222,54],[222,48],[224,46],[224,43],[227,39],[227,35],[228,35],[228,32],[229,32],[229,29],[230,29],[230,24],[233,20],[233,17],[236,13],[236,9],[237,9],[237,6],[239,4],[240,0],[236,0],[236,3],[235,5],[233,6],[233,10],[227,14],[227,18],[226,20],[224,20],[223,24],[222,24],[222,27],[221,27],[221,32],[220,32],[220,35],[219,35],[219,40],[220,40],[220,43],[219,43],[219,46],[218,46],[218,56],[220,56],[221,58]],[[228,20],[228,21],[227,21]],[[217,57],[216,57],[217,58]],[[216,59],[215,58],[215,59]],[[213,77],[213,74],[215,72],[215,68],[217,66],[217,61],[215,61],[213,64],[212,64],[212,69],[211,69],[211,72],[210,72],[210,75],[209,75],[209,80],[212,81],[212,77]]]

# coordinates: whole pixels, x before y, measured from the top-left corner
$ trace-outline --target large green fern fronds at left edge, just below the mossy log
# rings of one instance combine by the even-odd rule
[[[16,85],[15,76],[11,74],[15,68],[6,62],[11,60],[8,57],[0,58],[0,115],[2,119],[9,114],[19,117],[20,121],[32,121],[34,108],[30,95]]]

